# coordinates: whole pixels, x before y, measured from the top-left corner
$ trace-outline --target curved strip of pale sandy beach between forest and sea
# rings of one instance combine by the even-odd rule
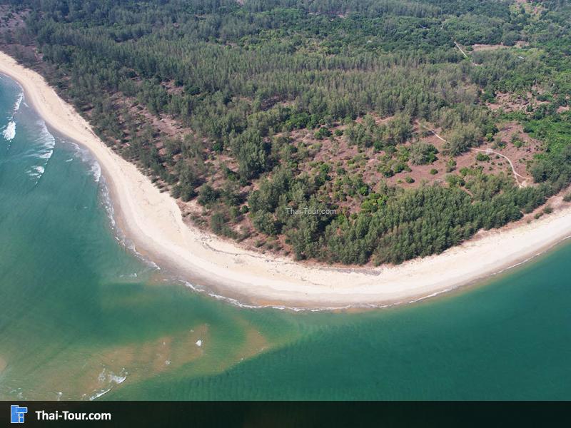
[[[571,204],[530,224],[480,231],[440,255],[398,266],[330,267],[244,250],[186,225],[176,200],[113,153],[38,73],[0,52],[0,73],[17,81],[48,126],[101,165],[116,221],[136,250],[189,282],[253,305],[366,307],[421,300],[518,265],[571,236]]]

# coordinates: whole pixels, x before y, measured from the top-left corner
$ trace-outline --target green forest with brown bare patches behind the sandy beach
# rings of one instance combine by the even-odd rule
[[[0,0],[0,13],[2,50],[186,218],[244,245],[400,263],[571,183],[568,1]]]

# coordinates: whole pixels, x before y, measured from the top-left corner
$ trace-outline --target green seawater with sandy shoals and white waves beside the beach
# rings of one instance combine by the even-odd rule
[[[412,305],[237,307],[138,257],[20,94],[1,77],[0,399],[571,399],[571,245]]]

